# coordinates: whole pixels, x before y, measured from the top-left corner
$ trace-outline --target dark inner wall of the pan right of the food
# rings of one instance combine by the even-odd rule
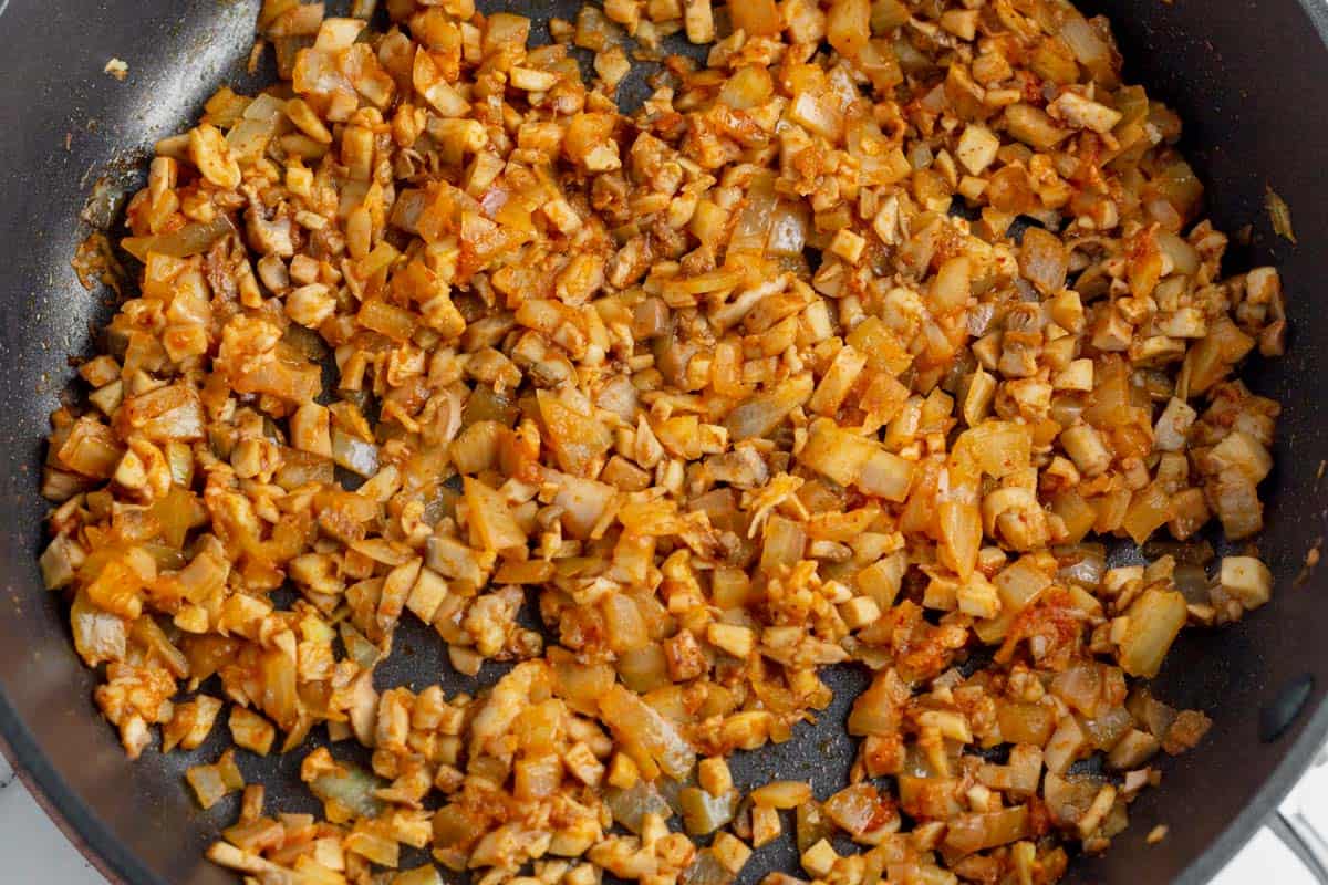
[[[1260,787],[1295,782],[1324,734],[1324,711],[1293,760],[1288,750],[1315,716],[1328,687],[1324,580],[1293,586],[1309,548],[1325,532],[1328,456],[1325,358],[1328,312],[1317,280],[1328,269],[1328,52],[1320,32],[1292,1],[1218,0],[1174,4],[1098,0],[1112,19],[1126,74],[1185,121],[1185,149],[1207,186],[1208,210],[1220,230],[1254,224],[1250,248],[1232,244],[1231,269],[1274,263],[1286,280],[1292,332],[1288,356],[1254,365],[1256,393],[1282,402],[1276,468],[1264,487],[1267,529],[1259,548],[1278,579],[1274,605],[1232,630],[1186,632],[1167,658],[1159,694],[1206,710],[1208,739],[1171,766],[1159,791],[1131,808],[1134,825],[1104,858],[1085,865],[1081,881],[1167,882],[1199,858],[1186,881],[1207,881],[1270,811],[1272,796],[1252,803]],[[1317,9],[1317,5],[1315,7]],[[1264,208],[1271,187],[1291,206],[1299,245],[1272,234]],[[1243,267],[1242,267],[1243,265]],[[1328,480],[1323,480],[1328,482]],[[1272,744],[1259,739],[1259,711],[1286,686],[1309,674],[1305,713]],[[1279,764],[1288,762],[1282,770]],[[1280,792],[1279,792],[1280,797]],[[1223,837],[1232,821],[1243,816]],[[1170,825],[1166,841],[1146,847],[1154,823]],[[1204,848],[1211,849],[1203,854]],[[1146,870],[1146,872],[1143,872]]]

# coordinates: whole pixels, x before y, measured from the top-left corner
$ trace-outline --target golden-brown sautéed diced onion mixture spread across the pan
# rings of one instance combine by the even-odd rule
[[[1145,681],[1270,598],[1199,532],[1262,527],[1279,409],[1232,373],[1286,336],[1105,21],[608,0],[529,46],[386,8],[264,3],[283,81],[157,146],[137,288],[52,418],[41,568],[98,706],[130,756],[239,748],[189,774],[243,789],[208,856],[724,885],[793,839],[818,882],[1032,885],[1104,849],[1208,726]],[[624,115],[676,32],[706,64]],[[473,694],[376,690],[401,618]],[[736,783],[831,665],[872,674],[849,785]],[[316,727],[372,771],[307,752],[325,820],[266,809],[232,754]]]

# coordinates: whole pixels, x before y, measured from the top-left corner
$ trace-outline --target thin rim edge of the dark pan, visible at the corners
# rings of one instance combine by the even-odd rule
[[[8,0],[0,0],[3,15]],[[1296,0],[1319,41],[1328,46],[1328,4]],[[1274,772],[1255,791],[1244,808],[1174,880],[1175,885],[1204,885],[1220,872],[1263,827],[1328,742],[1328,697],[1321,697],[1311,715],[1301,718],[1293,740]],[[1288,740],[1282,738],[1278,743]],[[171,885],[153,872],[129,845],[117,839],[101,815],[60,774],[0,683],[0,755],[17,779],[70,845],[110,885]],[[1202,751],[1197,758],[1202,756]],[[129,760],[126,759],[126,763]]]

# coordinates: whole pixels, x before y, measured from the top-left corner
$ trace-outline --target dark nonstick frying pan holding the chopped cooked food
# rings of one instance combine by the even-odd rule
[[[1307,0],[1315,3],[1316,0]],[[222,885],[230,874],[202,860],[234,821],[234,796],[197,808],[182,785],[187,766],[216,758],[224,727],[194,754],[153,751],[126,762],[92,705],[94,674],[69,641],[62,604],[41,589],[45,503],[37,495],[46,417],[109,314],[106,292],[86,292],[69,267],[88,222],[105,224],[116,196],[142,184],[151,143],[182,131],[222,82],[247,77],[259,0],[0,0],[0,743],[66,835],[116,882]],[[329,4],[333,9],[336,4]],[[579,0],[489,0],[537,21],[572,17]],[[1228,271],[1274,263],[1288,291],[1289,354],[1246,377],[1283,405],[1276,470],[1264,486],[1259,539],[1276,576],[1274,604],[1240,624],[1187,630],[1155,693],[1198,707],[1214,726],[1198,750],[1167,763],[1162,789],[1131,805],[1131,827],[1101,858],[1084,858],[1072,882],[1207,881],[1263,823],[1328,735],[1328,577],[1301,576],[1324,532],[1321,464],[1328,459],[1328,12],[1300,0],[1100,0],[1133,82],[1186,121],[1186,150],[1208,186],[1222,230],[1252,224]],[[126,82],[102,73],[120,57]],[[640,86],[635,90],[640,94]],[[1291,206],[1293,245],[1272,232],[1266,188]],[[89,202],[89,195],[96,195]],[[80,218],[80,211],[84,218]],[[1328,480],[1325,480],[1328,482]],[[1296,580],[1301,576],[1301,580]],[[473,690],[445,662],[441,644],[404,628],[380,687],[442,681]],[[495,674],[486,669],[482,681]],[[818,796],[843,783],[853,747],[843,718],[866,679],[830,678],[835,702],[795,739],[737,760],[740,782],[807,779]],[[337,752],[344,752],[337,748]],[[299,754],[242,754],[247,780],[268,784],[270,807],[315,811],[296,778]],[[1153,825],[1169,837],[1146,847]],[[791,870],[793,848],[768,847],[744,881]],[[0,880],[5,876],[0,872]]]

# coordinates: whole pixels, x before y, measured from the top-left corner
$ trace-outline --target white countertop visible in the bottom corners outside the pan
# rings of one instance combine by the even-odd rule
[[[1328,831],[1328,767],[1311,771],[1283,804]],[[56,829],[0,756],[0,882],[106,885]],[[1267,829],[1254,837],[1211,885],[1315,885],[1295,856]]]

